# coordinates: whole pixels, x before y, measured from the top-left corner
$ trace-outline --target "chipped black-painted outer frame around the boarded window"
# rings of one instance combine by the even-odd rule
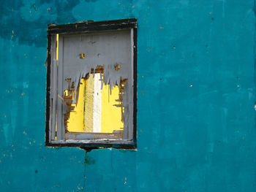
[[[47,55],[47,82],[46,82],[46,120],[45,120],[45,146],[47,147],[81,147],[84,149],[95,149],[99,147],[113,147],[121,149],[136,149],[137,148],[137,24],[135,18],[122,20],[104,20],[96,21],[86,20],[78,23],[64,25],[48,25],[48,55]],[[51,39],[56,34],[74,34],[97,31],[117,31],[121,29],[133,29],[133,138],[129,144],[113,144],[108,142],[97,143],[53,143],[50,142],[50,65],[51,65]]]

